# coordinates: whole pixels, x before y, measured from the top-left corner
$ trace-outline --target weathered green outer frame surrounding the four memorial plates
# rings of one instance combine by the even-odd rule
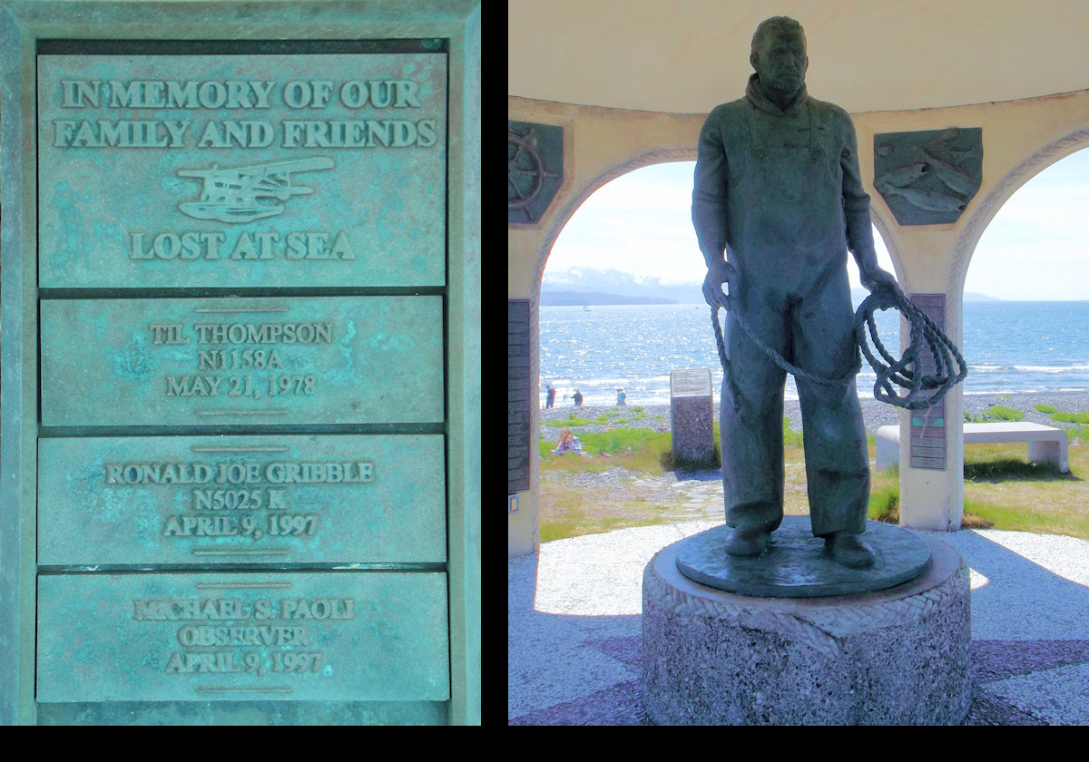
[[[130,298],[108,287],[39,288],[36,62],[64,54],[360,53],[431,46],[446,56],[444,284],[280,288],[160,288],[159,297],[441,297],[443,417],[413,427],[338,425],[342,434],[441,434],[445,455],[449,700],[220,702],[148,700],[38,703],[35,692],[39,438],[112,435],[125,427],[50,432],[41,423],[39,298]],[[384,47],[382,47],[384,46]],[[416,46],[416,47],[413,47]],[[0,724],[478,724],[480,722],[479,566],[479,164],[480,2],[0,2]],[[198,427],[199,428],[199,427]],[[274,427],[273,427],[274,430]],[[213,433],[170,430],[162,433]],[[261,433],[267,433],[264,428]],[[256,434],[257,427],[229,433]],[[278,433],[301,433],[283,428]]]

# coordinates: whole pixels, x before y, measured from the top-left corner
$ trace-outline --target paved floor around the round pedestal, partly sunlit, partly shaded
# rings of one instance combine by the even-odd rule
[[[510,724],[649,724],[639,696],[643,569],[660,549],[714,525],[622,529],[510,561]],[[1089,724],[1089,542],[993,529],[934,534],[971,567],[965,724]]]

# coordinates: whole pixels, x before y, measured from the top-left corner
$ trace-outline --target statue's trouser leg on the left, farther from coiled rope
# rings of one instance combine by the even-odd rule
[[[756,320],[764,322],[759,316]],[[767,322],[760,324],[759,335],[783,353],[782,317]],[[772,531],[783,520],[786,373],[757,348],[732,316],[726,325],[730,368],[723,373],[719,408],[726,525]]]

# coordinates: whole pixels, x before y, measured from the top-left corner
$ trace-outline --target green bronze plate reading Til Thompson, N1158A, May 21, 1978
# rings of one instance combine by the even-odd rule
[[[44,426],[442,416],[439,296],[41,302]]]

